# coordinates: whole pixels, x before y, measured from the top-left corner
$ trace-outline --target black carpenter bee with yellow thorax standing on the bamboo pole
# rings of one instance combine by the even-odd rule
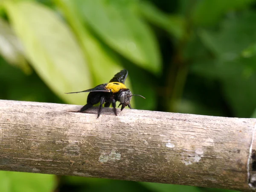
[[[107,108],[112,104],[113,111],[116,116],[117,116],[117,112],[116,112],[117,101],[120,102],[119,106],[122,105],[121,111],[126,106],[132,109],[131,103],[130,103],[131,97],[141,96],[141,95],[133,95],[131,93],[131,90],[126,88],[125,79],[127,78],[127,76],[128,76],[128,71],[122,70],[119,73],[116,73],[116,75],[109,81],[109,83],[100,84],[92,89],[87,89],[79,92],[71,92],[71,93],[90,92],[87,97],[87,104],[80,109],[80,112],[91,108],[93,105],[96,105],[99,102],[100,102],[100,105],[98,109],[97,119],[101,114],[103,104],[104,104],[104,107],[107,107]],[[70,94],[70,93],[66,93],[66,94]],[[145,97],[143,98],[145,99]]]

